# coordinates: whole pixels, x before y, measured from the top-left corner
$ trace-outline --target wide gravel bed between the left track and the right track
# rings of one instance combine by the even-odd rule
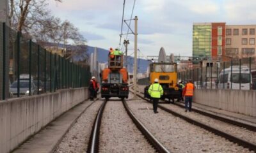
[[[143,100],[129,101],[129,107],[159,142],[171,152],[250,152],[221,136],[214,135],[158,109]]]

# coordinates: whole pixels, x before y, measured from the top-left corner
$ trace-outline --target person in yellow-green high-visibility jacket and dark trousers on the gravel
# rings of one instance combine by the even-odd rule
[[[150,85],[148,89],[148,94],[150,95],[153,101],[154,113],[158,113],[157,112],[158,101],[161,98],[161,95],[164,94],[163,87],[158,83],[158,78],[155,78],[154,84]]]

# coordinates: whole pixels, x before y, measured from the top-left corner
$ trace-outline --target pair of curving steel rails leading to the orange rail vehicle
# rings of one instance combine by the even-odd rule
[[[104,111],[104,107],[106,106],[107,101],[105,100],[102,106],[100,106],[100,110],[95,119],[92,135],[90,140],[90,145],[88,146],[87,152],[99,152],[99,134],[100,134],[100,122],[102,119],[102,113]],[[132,122],[136,125],[136,127],[141,131],[143,136],[147,139],[148,143],[152,145],[152,147],[156,150],[156,152],[167,153],[169,152],[148,130],[143,126],[143,124],[138,120],[135,115],[131,112],[129,106],[127,105],[125,100],[122,100],[124,108],[128,113],[129,117],[132,119]]]

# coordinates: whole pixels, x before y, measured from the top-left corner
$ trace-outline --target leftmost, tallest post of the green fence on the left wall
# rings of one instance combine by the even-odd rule
[[[6,85],[6,33],[5,33],[5,23],[3,23],[3,100],[5,99],[5,85]]]

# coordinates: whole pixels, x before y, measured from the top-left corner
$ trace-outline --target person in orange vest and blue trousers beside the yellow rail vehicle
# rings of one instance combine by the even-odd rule
[[[192,84],[192,80],[189,79],[188,84],[186,84],[182,92],[182,96],[185,96],[185,112],[188,112],[188,110],[189,112],[191,112],[194,90],[195,90],[195,87]],[[189,107],[188,107],[188,103],[189,103]]]

